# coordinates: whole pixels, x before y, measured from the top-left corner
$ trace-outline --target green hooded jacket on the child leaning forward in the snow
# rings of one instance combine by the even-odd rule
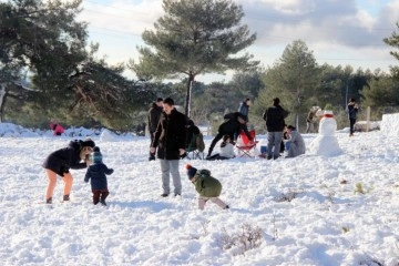
[[[195,190],[204,197],[218,197],[222,192],[222,184],[211,176],[211,171],[198,170],[194,175]]]

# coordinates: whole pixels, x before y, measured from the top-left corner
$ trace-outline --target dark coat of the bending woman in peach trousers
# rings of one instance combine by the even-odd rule
[[[69,173],[70,168],[85,168],[86,163],[81,163],[80,157],[81,144],[78,141],[71,141],[68,147],[52,152],[43,162],[44,168],[63,176]]]

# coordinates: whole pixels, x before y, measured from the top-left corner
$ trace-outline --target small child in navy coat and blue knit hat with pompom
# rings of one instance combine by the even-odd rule
[[[93,164],[89,166],[84,176],[84,182],[89,183],[90,181],[93,193],[93,204],[96,205],[100,202],[103,206],[106,206],[105,200],[110,195],[106,175],[111,175],[113,168],[109,168],[102,162],[102,154],[98,146],[93,149],[92,161]]]

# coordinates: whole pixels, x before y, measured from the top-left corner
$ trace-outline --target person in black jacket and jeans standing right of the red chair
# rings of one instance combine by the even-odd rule
[[[279,105],[278,98],[273,99],[273,106],[266,109],[263,114],[267,130],[267,160],[272,157],[276,160],[279,156],[285,119],[287,116],[288,112]]]

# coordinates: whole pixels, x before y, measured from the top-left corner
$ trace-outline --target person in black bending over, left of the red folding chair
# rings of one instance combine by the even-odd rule
[[[252,141],[253,137],[250,136],[248,129],[246,127],[246,116],[242,113],[235,112],[229,113],[224,116],[227,121],[223,122],[217,131],[216,136],[213,139],[207,157],[211,157],[212,151],[215,147],[216,143],[222,140],[224,135],[229,135],[231,140],[234,140],[234,134],[236,132],[241,132],[242,130],[248,136],[248,140]]]

